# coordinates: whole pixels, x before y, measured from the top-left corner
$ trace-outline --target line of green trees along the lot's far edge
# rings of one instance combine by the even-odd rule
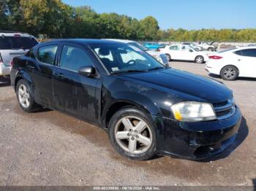
[[[50,38],[256,42],[256,28],[161,30],[151,16],[137,20],[116,13],[99,14],[91,7],[72,7],[61,0],[0,0],[0,30],[47,34]]]

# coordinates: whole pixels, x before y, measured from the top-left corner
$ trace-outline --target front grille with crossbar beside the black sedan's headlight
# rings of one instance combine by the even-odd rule
[[[236,112],[233,98],[227,101],[214,103],[213,106],[218,120],[224,120],[231,117]]]

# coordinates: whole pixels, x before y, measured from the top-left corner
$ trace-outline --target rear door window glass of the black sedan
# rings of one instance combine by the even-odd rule
[[[38,61],[53,65],[57,49],[57,45],[39,47],[37,54]]]

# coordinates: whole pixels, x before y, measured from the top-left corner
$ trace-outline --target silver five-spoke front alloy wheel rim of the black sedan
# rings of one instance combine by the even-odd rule
[[[139,117],[122,117],[115,126],[115,139],[119,147],[131,154],[146,152],[152,144],[152,132]]]

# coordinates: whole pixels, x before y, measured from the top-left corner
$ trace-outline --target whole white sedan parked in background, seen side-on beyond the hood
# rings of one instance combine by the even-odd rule
[[[167,55],[169,61],[194,61],[195,63],[204,63],[208,60],[207,52],[195,50],[193,47],[184,44],[173,44],[159,48],[159,52]]]

